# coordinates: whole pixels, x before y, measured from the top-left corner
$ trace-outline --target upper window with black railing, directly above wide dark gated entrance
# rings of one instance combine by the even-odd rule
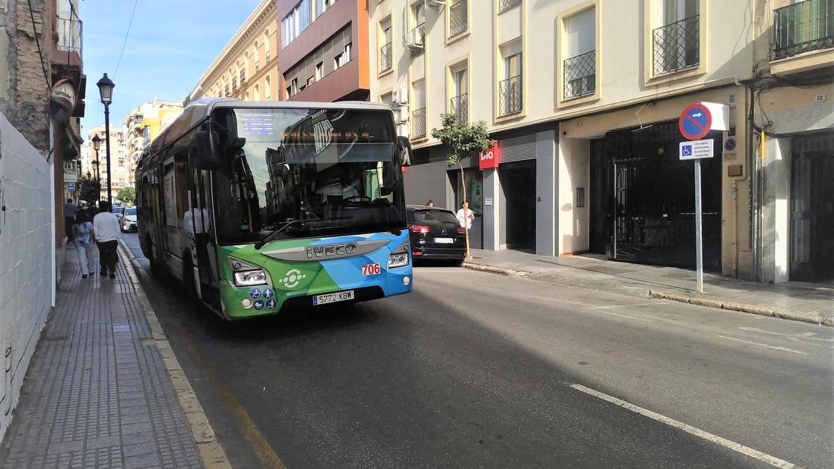
[[[659,0],[661,24],[652,30],[655,75],[695,67],[701,62],[699,0]]]

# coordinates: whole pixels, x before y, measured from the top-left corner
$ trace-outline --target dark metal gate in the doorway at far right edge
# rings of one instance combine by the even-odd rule
[[[834,134],[791,146],[791,280],[834,279]]]

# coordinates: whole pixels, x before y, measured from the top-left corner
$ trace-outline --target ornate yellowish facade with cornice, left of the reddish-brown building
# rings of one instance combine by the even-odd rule
[[[278,5],[263,0],[200,77],[188,99],[279,99]]]

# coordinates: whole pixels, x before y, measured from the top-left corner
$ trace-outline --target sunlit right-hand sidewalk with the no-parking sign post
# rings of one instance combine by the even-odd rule
[[[629,264],[600,255],[548,257],[515,250],[472,250],[466,267],[519,275],[552,285],[677,300],[821,325],[834,325],[834,285],[787,282],[770,285],[704,275],[704,293],[695,290],[695,272],[675,267]]]

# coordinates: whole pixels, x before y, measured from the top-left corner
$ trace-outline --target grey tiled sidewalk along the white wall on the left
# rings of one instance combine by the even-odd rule
[[[149,325],[146,299],[119,256],[116,279],[83,280],[68,249],[58,305],[0,446],[0,467],[203,466],[204,448],[181,406],[183,388],[191,388],[185,381],[175,391],[176,359],[163,361],[168,341],[153,313]]]

